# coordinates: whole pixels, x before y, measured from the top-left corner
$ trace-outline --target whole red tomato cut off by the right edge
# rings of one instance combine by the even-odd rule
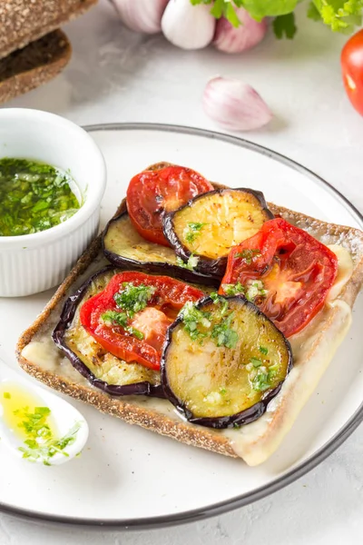
[[[357,112],[363,115],[363,30],[348,39],[340,61],[349,100]]]

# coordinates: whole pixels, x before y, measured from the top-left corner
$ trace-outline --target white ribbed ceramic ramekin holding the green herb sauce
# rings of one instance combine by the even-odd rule
[[[83,206],[41,233],[0,236],[0,297],[43,292],[64,279],[98,229],[106,186],[103,154],[81,127],[37,110],[0,110],[0,158],[52,164],[71,173]]]

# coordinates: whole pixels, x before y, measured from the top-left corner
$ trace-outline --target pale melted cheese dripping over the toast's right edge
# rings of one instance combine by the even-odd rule
[[[270,401],[268,410],[259,420],[242,426],[239,430],[213,431],[227,437],[236,455],[251,466],[266,461],[280,446],[348,332],[351,309],[337,297],[351,276],[353,263],[350,254],[342,246],[332,245],[329,248],[338,257],[336,282],[329,292],[324,309],[302,332],[289,339],[294,367],[284,381],[280,393]],[[62,352],[58,351],[49,332],[44,332],[27,344],[22,355],[44,370],[56,373],[60,378],[91,387],[74,370]],[[163,414],[172,421],[185,421],[169,401],[145,396],[130,396],[127,401],[148,411]],[[195,424],[185,424],[195,427]]]

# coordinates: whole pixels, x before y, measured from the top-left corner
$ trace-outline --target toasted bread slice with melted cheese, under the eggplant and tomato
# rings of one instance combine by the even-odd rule
[[[159,163],[152,168],[160,168]],[[125,202],[117,213],[123,212]],[[317,386],[334,352],[342,342],[351,321],[350,309],[363,282],[363,233],[357,229],[324,223],[302,213],[270,204],[275,214],[305,229],[323,243],[343,246],[351,256],[348,275],[338,282],[333,297],[300,333],[291,337],[295,365],[280,393],[270,402],[269,411],[258,421],[240,430],[212,430],[182,419],[166,400],[133,396],[115,398],[97,391],[74,370],[55,347],[51,333],[59,320],[64,301],[70,293],[102,268],[101,237],[90,245],[52,300],[17,344],[18,362],[34,378],[57,391],[85,401],[100,411],[132,424],[156,431],[178,441],[240,457],[250,465],[266,461],[288,433],[299,411]],[[350,260],[350,257],[349,257]],[[309,387],[307,387],[307,384]]]

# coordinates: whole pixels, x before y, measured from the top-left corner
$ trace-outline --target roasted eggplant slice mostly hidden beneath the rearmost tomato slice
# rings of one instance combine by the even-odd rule
[[[103,253],[117,267],[170,274],[184,282],[219,286],[219,282],[209,275],[178,265],[172,248],[145,241],[133,227],[127,212],[108,223],[103,234]]]

